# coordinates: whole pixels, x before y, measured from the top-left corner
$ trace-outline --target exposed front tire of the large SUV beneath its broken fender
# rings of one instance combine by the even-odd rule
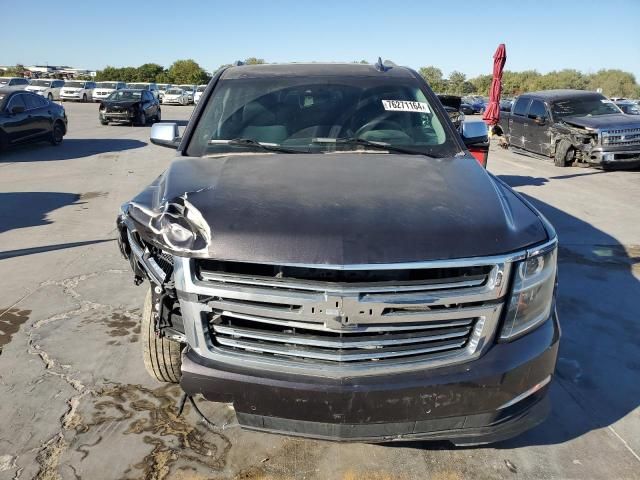
[[[151,288],[142,309],[142,360],[151,378],[164,383],[180,382],[181,345],[166,337],[158,337],[154,329]]]

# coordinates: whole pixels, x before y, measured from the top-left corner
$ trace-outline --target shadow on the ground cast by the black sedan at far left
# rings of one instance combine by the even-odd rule
[[[0,154],[0,163],[72,160],[101,153],[142,148],[145,142],[129,138],[69,138],[57,147],[47,142],[19,145]]]

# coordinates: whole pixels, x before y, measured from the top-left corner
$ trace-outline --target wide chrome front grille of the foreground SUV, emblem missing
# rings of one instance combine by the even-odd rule
[[[198,319],[190,344],[199,354],[334,375],[479,356],[510,267],[495,259],[371,270],[175,260],[177,287],[190,294],[183,315]]]

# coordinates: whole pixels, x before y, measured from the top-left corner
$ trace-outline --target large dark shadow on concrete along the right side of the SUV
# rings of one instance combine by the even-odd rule
[[[512,186],[539,183],[535,177],[501,178]],[[560,239],[562,339],[550,417],[519,437],[492,445],[499,449],[558,445],[614,428],[640,405],[640,246],[622,245],[588,222],[524,196],[551,221]],[[439,442],[397,446],[447,448]]]

